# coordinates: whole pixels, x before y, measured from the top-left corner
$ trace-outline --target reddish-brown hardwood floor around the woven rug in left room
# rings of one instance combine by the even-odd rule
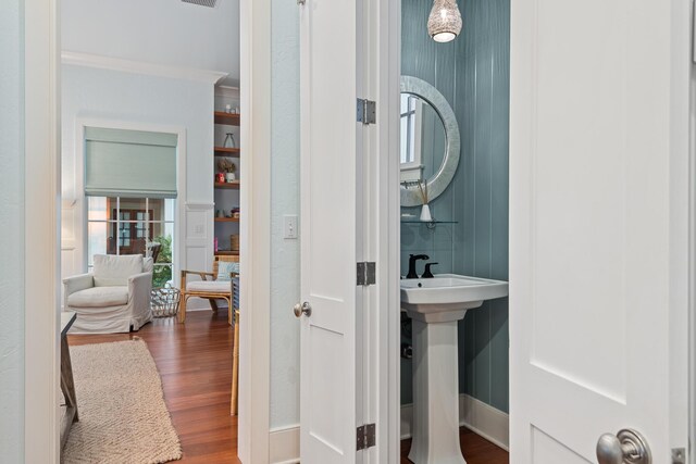
[[[176,462],[240,464],[237,417],[229,416],[232,328],[227,312],[189,312],[186,324],[154,319],[132,334],[72,335],[69,344],[136,337],[148,344],[162,377],[164,400],[184,451]],[[79,398],[77,401],[79,404]]]

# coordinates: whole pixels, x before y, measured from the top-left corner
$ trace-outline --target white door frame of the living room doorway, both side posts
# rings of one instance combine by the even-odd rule
[[[240,356],[239,456],[244,462],[269,462],[269,335],[270,335],[270,131],[271,113],[271,3],[240,2],[243,147],[254,151],[243,171],[249,180],[241,188],[247,215],[240,227],[250,237],[243,249],[243,272],[253,285],[243,285],[243,298],[254,311],[241,318],[241,350],[259,361],[251,369],[250,356]],[[60,10],[58,0],[24,1],[24,147],[25,172],[25,281],[42,281],[46,291],[24,289],[24,456],[27,463],[60,460]],[[252,59],[253,58],[253,59]],[[253,83],[251,87],[250,84]],[[30,90],[27,90],[30,89]],[[250,110],[256,111],[252,113]],[[246,122],[245,122],[246,121]],[[250,151],[251,152],[251,151]],[[45,168],[35,170],[41,165]],[[260,181],[253,181],[254,179]],[[34,214],[41,211],[41,214]],[[244,235],[243,235],[244,237]],[[48,265],[47,265],[48,263]],[[52,317],[47,309],[53,308]],[[249,336],[246,336],[249,334]],[[265,368],[264,368],[265,367]],[[253,411],[253,414],[250,412]],[[22,425],[20,425],[22,426]],[[30,440],[27,437],[32,437]]]

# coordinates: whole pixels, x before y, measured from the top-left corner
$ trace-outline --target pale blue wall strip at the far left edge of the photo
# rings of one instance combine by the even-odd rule
[[[0,461],[24,462],[24,57],[21,0],[0,1]]]

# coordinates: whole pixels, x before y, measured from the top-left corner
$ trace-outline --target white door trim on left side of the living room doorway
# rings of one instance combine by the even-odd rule
[[[60,455],[60,11],[24,2],[24,462]],[[41,291],[37,290],[37,285]],[[17,309],[21,311],[21,309]],[[22,427],[22,424],[17,424]]]

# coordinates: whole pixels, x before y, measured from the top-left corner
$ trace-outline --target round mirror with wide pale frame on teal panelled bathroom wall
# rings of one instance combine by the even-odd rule
[[[418,181],[427,184],[428,201],[451,183],[459,164],[460,137],[455,112],[425,80],[401,76],[401,206],[423,203]]]

